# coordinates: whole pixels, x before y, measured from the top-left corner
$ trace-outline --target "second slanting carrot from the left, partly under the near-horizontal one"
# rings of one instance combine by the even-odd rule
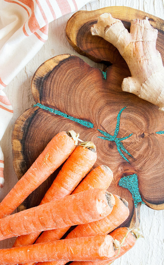
[[[90,147],[88,148],[87,145]],[[60,198],[70,195],[78,183],[90,171],[96,162],[96,147],[91,142],[88,142],[85,146],[86,147],[83,148],[82,144],[80,144],[74,149],[56,176],[53,184],[46,192],[40,205],[50,201],[59,200]],[[106,188],[107,187],[105,187],[105,189]],[[17,237],[13,246],[31,245],[35,242],[39,235],[40,232],[37,232]]]

